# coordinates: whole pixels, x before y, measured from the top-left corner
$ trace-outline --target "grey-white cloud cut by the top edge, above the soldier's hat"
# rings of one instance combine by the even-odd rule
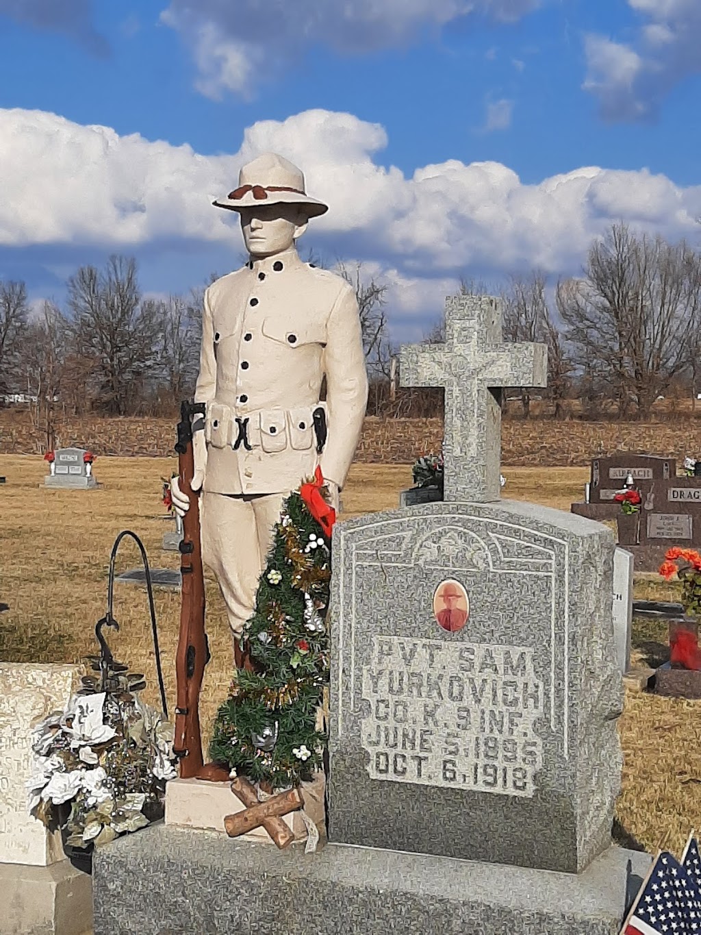
[[[1,0],[0,0],[1,2]],[[78,2],[78,0],[76,0]],[[170,0],[162,21],[193,50],[208,97],[250,96],[312,45],[346,54],[405,46],[472,15],[515,22],[542,0]]]

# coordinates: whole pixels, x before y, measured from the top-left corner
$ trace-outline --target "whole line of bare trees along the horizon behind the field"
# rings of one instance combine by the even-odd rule
[[[315,258],[318,263],[318,259]],[[440,391],[399,389],[387,286],[361,263],[339,262],[360,308],[371,415],[438,415]],[[57,411],[113,416],[172,414],[197,375],[202,297],[212,275],[187,295],[144,295],[134,258],[81,266],[64,307],[33,309],[23,282],[0,280],[0,395],[29,396],[37,428],[50,435]],[[494,295],[463,281],[465,294]],[[674,393],[694,401],[701,382],[701,251],[685,241],[612,225],[591,244],[578,277],[555,283],[538,270],[497,291],[504,337],[548,345],[547,399],[555,418],[615,414],[645,419]],[[444,338],[437,322],[424,340]],[[524,417],[533,396],[514,387]],[[542,409],[542,407],[541,407]]]

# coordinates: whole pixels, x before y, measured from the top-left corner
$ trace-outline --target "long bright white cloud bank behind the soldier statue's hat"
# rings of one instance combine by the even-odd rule
[[[701,186],[681,188],[646,169],[590,166],[526,185],[506,165],[449,160],[407,177],[379,165],[386,144],[379,124],[327,110],[255,123],[235,154],[204,156],[50,113],[0,109],[0,246],[34,255],[42,245],[93,253],[144,246],[150,262],[174,242],[236,252],[236,215],[211,200],[267,150],[301,165],[309,193],[330,205],[308,241],[375,264],[368,269],[387,277],[405,322],[429,295],[439,310],[462,275],[577,272],[592,238],[620,219],[672,238],[698,231]]]

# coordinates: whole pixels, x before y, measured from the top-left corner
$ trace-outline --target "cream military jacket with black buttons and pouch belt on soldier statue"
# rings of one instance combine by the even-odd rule
[[[205,294],[195,401],[207,408],[208,493],[287,493],[317,464],[342,487],[367,402],[350,285],[303,263],[294,249],[213,282]],[[328,432],[322,453],[313,422],[320,407]]]

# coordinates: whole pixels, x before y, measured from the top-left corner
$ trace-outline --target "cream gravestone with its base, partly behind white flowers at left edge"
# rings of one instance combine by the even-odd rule
[[[0,886],[2,935],[83,935],[91,926],[90,877],[65,859],[61,835],[27,812],[35,772],[32,728],[79,687],[76,666],[0,663]]]

